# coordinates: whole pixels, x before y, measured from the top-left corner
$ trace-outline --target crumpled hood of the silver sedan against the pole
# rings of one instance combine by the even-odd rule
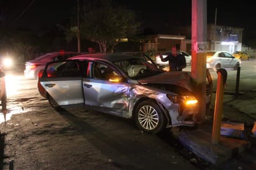
[[[140,84],[175,84],[193,91],[193,81],[189,71],[168,71],[148,78],[138,79]]]

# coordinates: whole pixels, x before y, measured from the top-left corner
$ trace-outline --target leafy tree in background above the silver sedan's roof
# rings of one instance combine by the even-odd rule
[[[111,52],[122,38],[136,33],[139,23],[135,21],[135,12],[123,6],[115,6],[109,1],[93,1],[83,7],[80,28],[71,27],[67,35],[75,38],[80,30],[81,38],[99,45],[101,52]]]

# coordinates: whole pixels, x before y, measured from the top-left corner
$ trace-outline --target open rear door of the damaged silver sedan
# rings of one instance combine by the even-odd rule
[[[81,63],[78,60],[47,63],[40,84],[58,105],[83,104]]]

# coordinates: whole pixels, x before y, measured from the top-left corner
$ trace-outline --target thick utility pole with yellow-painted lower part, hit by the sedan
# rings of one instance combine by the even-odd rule
[[[198,120],[206,115],[206,51],[207,51],[207,1],[192,0],[192,60],[191,76],[196,80],[199,99]]]

